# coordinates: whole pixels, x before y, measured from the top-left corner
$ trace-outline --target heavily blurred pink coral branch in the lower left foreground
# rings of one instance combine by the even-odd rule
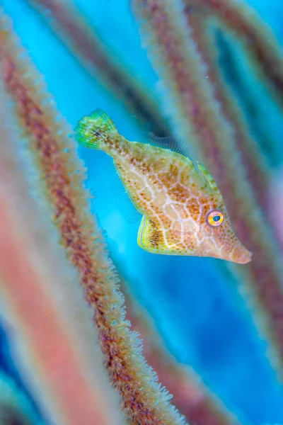
[[[65,259],[47,212],[28,193],[7,107],[1,84],[0,300],[13,329],[11,353],[53,424],[122,425],[78,273]]]

